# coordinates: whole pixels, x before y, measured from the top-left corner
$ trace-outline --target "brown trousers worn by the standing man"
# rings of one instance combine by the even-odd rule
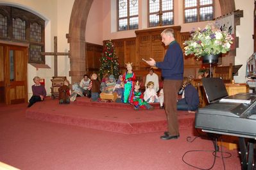
[[[164,80],[164,109],[166,110],[169,135],[180,135],[178,131],[177,99],[183,80]]]

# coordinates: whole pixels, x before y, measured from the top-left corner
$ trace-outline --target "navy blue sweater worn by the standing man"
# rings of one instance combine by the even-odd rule
[[[169,44],[163,62],[156,62],[155,66],[162,69],[162,77],[169,80],[183,80],[183,52],[178,42]]]

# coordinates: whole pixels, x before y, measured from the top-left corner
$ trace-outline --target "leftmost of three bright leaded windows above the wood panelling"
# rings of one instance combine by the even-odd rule
[[[117,30],[135,30],[139,28],[138,0],[118,0]]]

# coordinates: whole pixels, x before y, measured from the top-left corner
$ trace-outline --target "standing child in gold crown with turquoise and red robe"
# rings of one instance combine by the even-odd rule
[[[127,71],[123,74],[124,81],[124,103],[129,103],[135,84],[135,74],[132,71],[132,63],[126,64]]]

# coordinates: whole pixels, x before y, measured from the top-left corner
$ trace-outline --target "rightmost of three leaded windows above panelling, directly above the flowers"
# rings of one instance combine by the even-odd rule
[[[214,0],[184,0],[184,22],[210,21],[214,18]]]

